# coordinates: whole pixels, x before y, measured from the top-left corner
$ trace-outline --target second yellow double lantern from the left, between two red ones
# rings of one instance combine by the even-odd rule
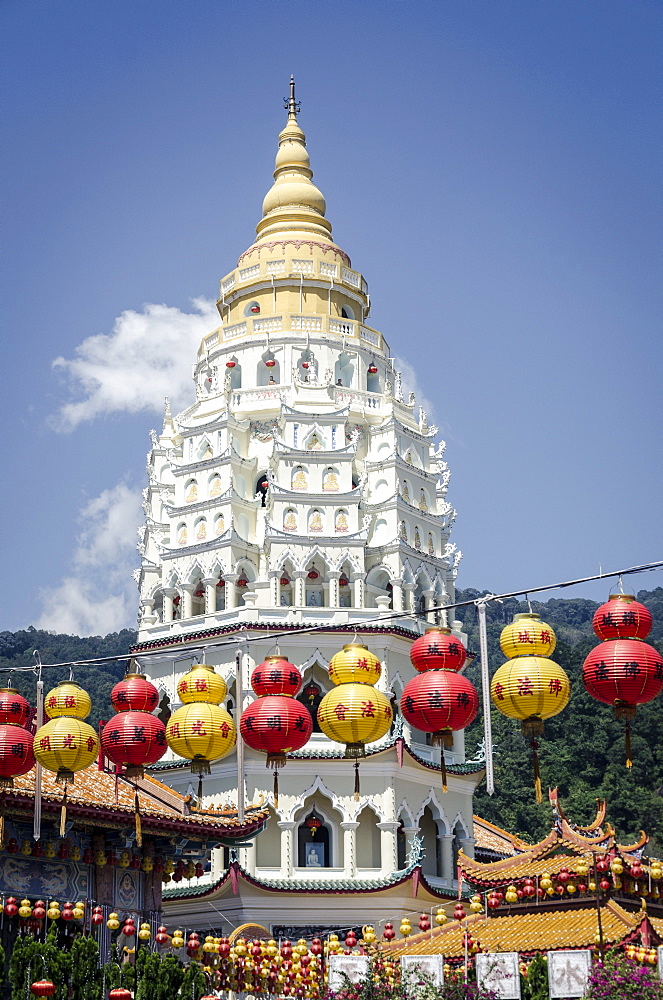
[[[184,675],[177,690],[184,704],[168,720],[168,746],[191,761],[192,774],[209,774],[210,763],[232,750],[237,735],[232,717],[217,704],[225,697],[226,682],[214,667],[200,663]]]

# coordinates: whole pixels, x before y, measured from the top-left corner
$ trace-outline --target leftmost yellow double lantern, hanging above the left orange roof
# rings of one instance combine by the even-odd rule
[[[60,784],[73,782],[74,773],[89,767],[99,750],[94,729],[81,721],[90,714],[90,696],[70,681],[49,691],[44,707],[50,722],[35,733],[35,758],[47,771],[56,772]]]

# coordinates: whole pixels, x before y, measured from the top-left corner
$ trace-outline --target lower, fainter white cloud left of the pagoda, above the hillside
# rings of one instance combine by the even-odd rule
[[[141,493],[118,483],[90,500],[79,514],[81,531],[71,573],[42,591],[37,628],[69,635],[106,635],[134,628],[138,591],[136,529],[143,520]]]

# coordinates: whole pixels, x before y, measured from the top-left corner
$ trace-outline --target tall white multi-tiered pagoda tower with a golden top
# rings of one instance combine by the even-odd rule
[[[395,704],[414,674],[412,640],[427,623],[460,628],[434,610],[453,602],[460,559],[444,442],[403,398],[368,325],[366,279],[332,240],[294,82],[287,112],[257,240],[222,278],[220,325],[195,359],[195,402],[177,416],[166,404],[152,432],[134,652],[171,708],[178,679],[203,660],[226,678],[237,717],[236,653],[246,704],[251,670],[278,636],[315,716],[332,687],[327,664],[355,634],[379,656],[378,686]],[[440,750],[400,718],[369,748],[359,801],[343,753],[314,731],[281,773],[265,830],[237,856],[213,851],[202,880],[168,885],[167,921],[299,936],[452,898],[483,770],[466,763],[462,734],[446,751],[444,794]],[[214,765],[205,807],[272,803],[264,761],[244,747]],[[154,773],[195,797],[186,762],[171,755]]]

